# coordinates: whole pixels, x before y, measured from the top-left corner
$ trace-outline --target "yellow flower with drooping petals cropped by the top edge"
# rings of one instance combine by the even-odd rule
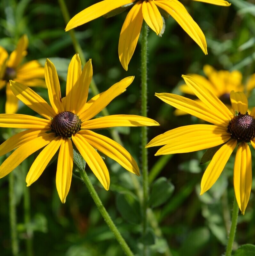
[[[224,0],[196,0],[209,4],[229,6]],[[143,20],[159,36],[163,34],[164,21],[161,15],[171,15],[186,33],[207,54],[205,36],[196,22],[178,0],[104,0],[76,14],[67,24],[66,31],[76,28],[100,16],[111,16],[132,6],[123,23],[119,39],[119,59],[125,70],[135,51]],[[112,12],[112,13],[111,13]]]

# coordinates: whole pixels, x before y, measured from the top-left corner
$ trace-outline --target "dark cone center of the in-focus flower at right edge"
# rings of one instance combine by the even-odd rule
[[[255,119],[248,114],[238,113],[234,116],[227,126],[227,132],[233,139],[249,142],[255,137]]]

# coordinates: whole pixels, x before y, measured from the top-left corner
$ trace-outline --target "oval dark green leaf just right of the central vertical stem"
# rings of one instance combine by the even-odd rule
[[[165,177],[161,177],[152,184],[149,205],[157,207],[167,201],[174,191],[174,185]]]

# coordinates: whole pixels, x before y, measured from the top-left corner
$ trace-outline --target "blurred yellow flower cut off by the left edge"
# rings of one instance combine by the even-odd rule
[[[6,85],[5,113],[13,114],[18,110],[18,99],[13,95],[9,80],[25,83],[28,86],[46,87],[44,68],[37,60],[32,60],[20,66],[24,56],[27,55],[28,37],[22,36],[17,48],[10,54],[0,46],[0,90]]]

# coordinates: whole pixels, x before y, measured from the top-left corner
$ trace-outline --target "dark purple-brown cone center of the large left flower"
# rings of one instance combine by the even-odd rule
[[[54,116],[51,129],[56,135],[69,138],[81,130],[81,124],[79,116],[73,112],[64,111]]]

